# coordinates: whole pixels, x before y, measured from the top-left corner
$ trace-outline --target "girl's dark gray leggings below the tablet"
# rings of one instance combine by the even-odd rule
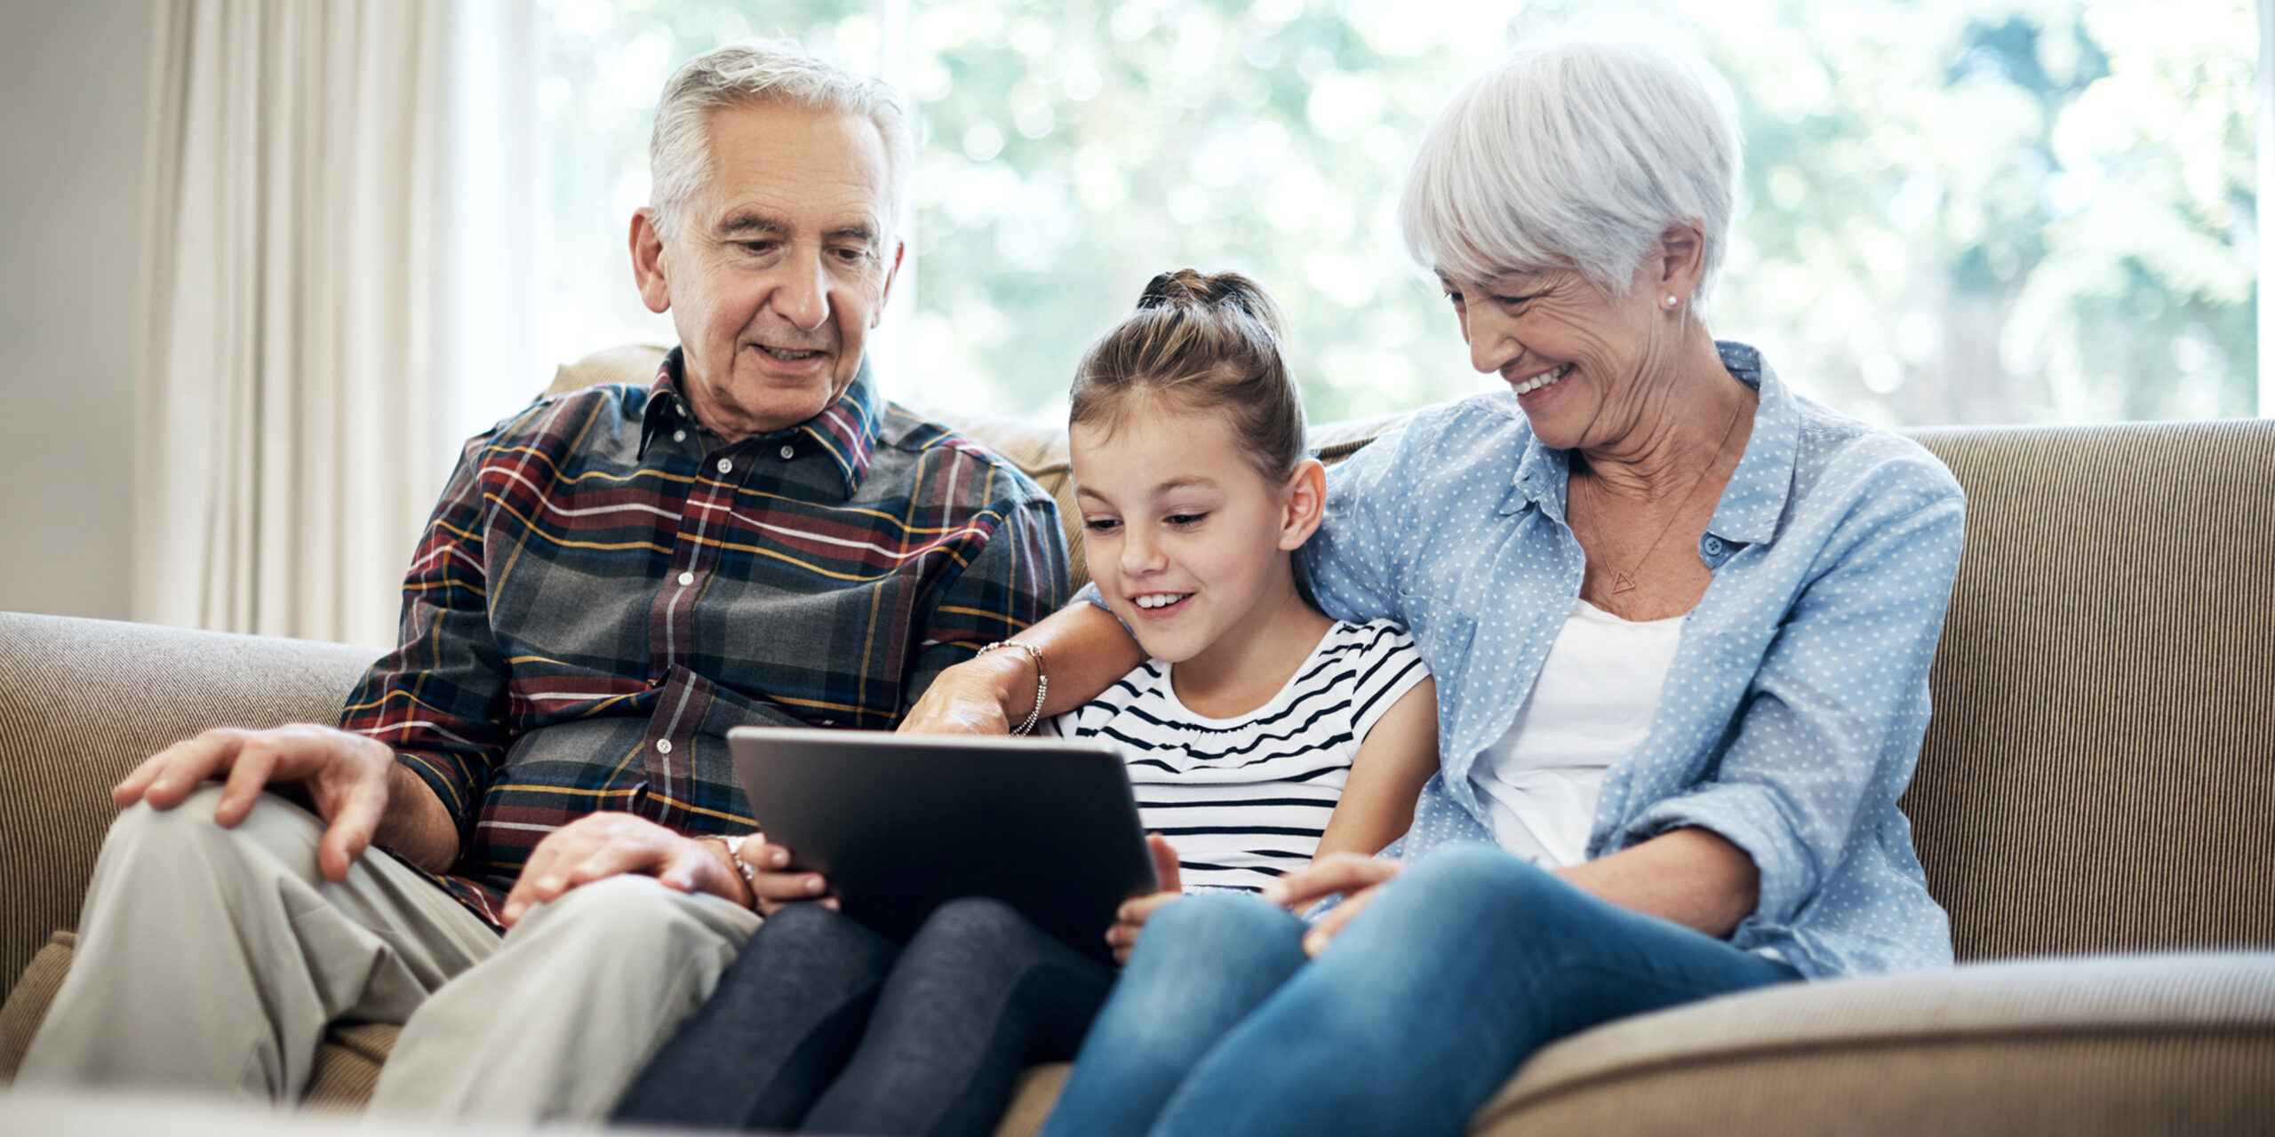
[[[940,907],[905,948],[789,905],[632,1080],[617,1119],[985,1137],[1024,1064],[1074,1057],[1112,980],[996,901]]]

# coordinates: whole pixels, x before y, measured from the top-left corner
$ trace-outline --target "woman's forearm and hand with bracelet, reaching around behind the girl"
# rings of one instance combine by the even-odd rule
[[[1042,653],[1051,691],[1042,714],[1065,714],[1144,662],[1138,641],[1110,612],[1087,600],[1015,634]],[[901,730],[915,735],[1008,735],[1035,707],[1035,662],[1024,650],[992,650],[940,673]]]

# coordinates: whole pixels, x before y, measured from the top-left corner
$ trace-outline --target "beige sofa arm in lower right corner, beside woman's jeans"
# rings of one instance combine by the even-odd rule
[[[2275,953],[1772,987],[1542,1048],[1472,1132],[2270,1132]]]

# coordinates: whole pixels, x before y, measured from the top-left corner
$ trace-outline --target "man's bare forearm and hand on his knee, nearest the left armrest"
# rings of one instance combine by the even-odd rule
[[[223,780],[214,821],[232,828],[253,812],[262,789],[293,785],[309,807],[330,821],[316,846],[316,864],[328,880],[346,880],[348,866],[380,841],[412,864],[446,871],[457,860],[457,825],[441,798],[396,762],[384,741],[346,730],[293,723],[275,730],[207,730],[182,739],[111,787],[118,807],[148,800],[173,810],[200,782]]]

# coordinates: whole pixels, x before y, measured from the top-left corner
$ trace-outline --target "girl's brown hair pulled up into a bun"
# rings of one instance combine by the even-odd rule
[[[1231,416],[1267,482],[1304,462],[1304,398],[1281,359],[1281,314],[1263,284],[1194,268],[1147,282],[1138,309],[1101,334],[1074,368],[1069,425],[1108,432],[1147,405]]]

